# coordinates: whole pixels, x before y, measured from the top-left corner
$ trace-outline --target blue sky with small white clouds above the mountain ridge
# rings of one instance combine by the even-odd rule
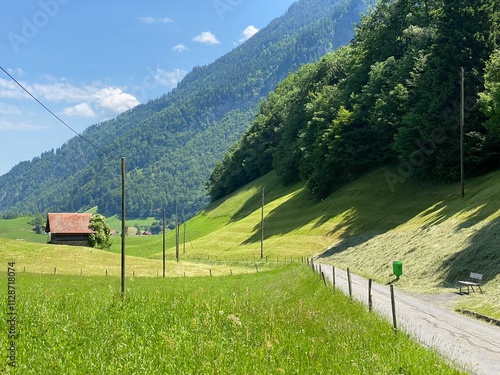
[[[3,0],[0,67],[75,132],[155,99],[296,0]],[[0,175],[76,134],[0,70]]]

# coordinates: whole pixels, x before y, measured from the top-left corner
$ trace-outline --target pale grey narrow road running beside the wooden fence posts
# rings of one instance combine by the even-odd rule
[[[332,266],[316,264],[332,281]],[[335,269],[336,287],[349,294],[347,272]],[[368,305],[368,280],[351,273],[352,296]],[[500,327],[465,317],[429,298],[394,288],[398,329],[425,346],[437,349],[451,362],[477,375],[500,374]],[[446,301],[446,299],[445,299]],[[392,322],[390,287],[372,284],[373,309]]]

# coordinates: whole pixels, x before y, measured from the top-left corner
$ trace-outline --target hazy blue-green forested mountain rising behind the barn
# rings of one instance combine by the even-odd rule
[[[208,197],[216,162],[248,129],[258,103],[303,64],[347,44],[374,1],[301,0],[214,63],[193,69],[170,93],[93,125],[57,150],[0,177],[0,213],[121,211],[189,217]]]

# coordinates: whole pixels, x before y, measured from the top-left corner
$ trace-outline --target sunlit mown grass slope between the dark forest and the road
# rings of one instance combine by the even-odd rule
[[[384,177],[391,169],[374,170],[322,201],[303,183],[285,187],[271,172],[191,219],[185,256],[258,259],[265,189],[269,261],[315,256],[388,283],[395,279],[392,262],[398,260],[403,276],[397,285],[426,293],[453,293],[457,280],[479,272],[487,292],[460,303],[500,318],[500,171],[467,180],[461,198],[459,183],[410,179],[392,190]]]

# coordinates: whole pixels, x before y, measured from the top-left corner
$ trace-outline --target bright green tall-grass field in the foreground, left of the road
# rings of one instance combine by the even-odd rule
[[[461,373],[305,266],[135,278],[125,299],[118,281],[18,273],[17,367],[2,362],[2,372]],[[9,347],[7,335],[0,345]]]

